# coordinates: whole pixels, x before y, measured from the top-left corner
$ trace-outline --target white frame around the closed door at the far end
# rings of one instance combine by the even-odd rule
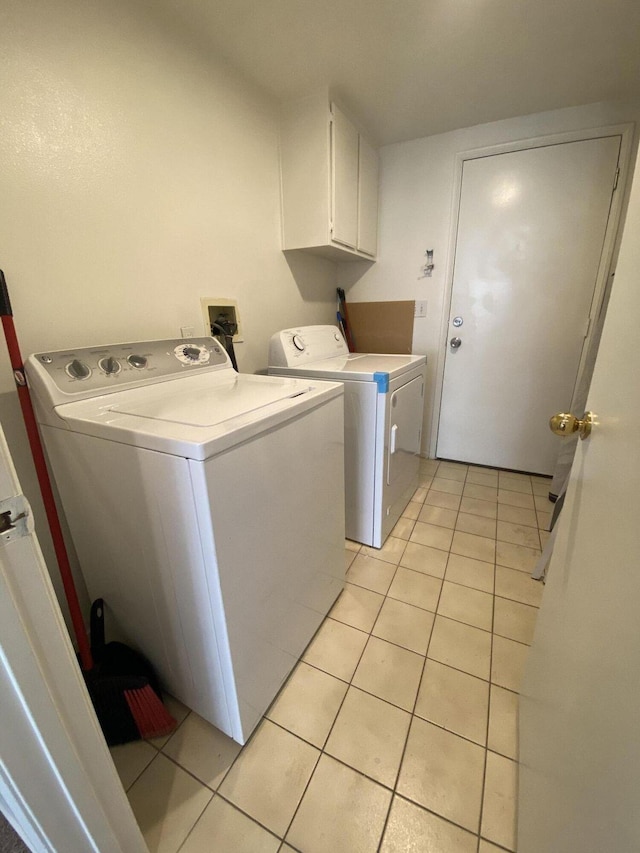
[[[519,139],[512,142],[498,143],[496,145],[483,146],[482,148],[471,148],[467,151],[458,151],[454,159],[454,181],[451,198],[451,225],[449,228],[449,242],[447,248],[445,289],[442,299],[442,314],[440,317],[439,347],[436,357],[436,379],[435,393],[433,399],[433,412],[431,416],[431,430],[429,439],[429,457],[436,458],[436,447],[438,443],[438,429],[440,426],[440,409],[442,406],[442,391],[444,387],[444,367],[447,354],[447,339],[449,336],[449,314],[451,312],[451,300],[453,298],[453,274],[455,267],[456,248],[458,241],[458,225],[460,220],[460,204],[462,201],[462,170],[467,160],[478,160],[484,157],[493,157],[496,154],[509,154],[514,151],[526,151],[530,148],[546,148],[551,145],[562,145],[567,142],[582,142],[589,139],[600,139],[606,136],[620,136],[620,156],[618,159],[618,185],[612,194],[611,207],[605,238],[598,264],[596,284],[593,300],[589,311],[589,331],[582,344],[580,363],[576,374],[576,382],[572,392],[575,394],[578,381],[584,369],[584,362],[588,352],[594,329],[597,326],[597,318],[606,304],[606,296],[609,292],[613,277],[613,261],[617,256],[620,244],[623,211],[629,198],[630,181],[629,172],[631,167],[631,155],[634,148],[633,123],[616,124],[605,127],[596,127],[586,130],[564,131],[552,133],[545,136],[536,136],[528,139]],[[573,404],[573,399],[571,400]]]

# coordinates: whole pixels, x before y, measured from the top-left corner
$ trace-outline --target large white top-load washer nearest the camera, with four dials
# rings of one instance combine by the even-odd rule
[[[342,386],[238,374],[213,338],[26,369],[91,598],[244,743],[344,584]]]

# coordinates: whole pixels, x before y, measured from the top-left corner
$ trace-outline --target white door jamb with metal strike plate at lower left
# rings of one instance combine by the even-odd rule
[[[146,851],[76,663],[1,428],[0,697],[0,811],[29,848]]]

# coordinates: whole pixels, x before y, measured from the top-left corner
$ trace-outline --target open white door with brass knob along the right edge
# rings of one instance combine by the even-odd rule
[[[522,687],[519,853],[640,849],[638,235],[637,174],[589,392],[597,424],[573,463]]]

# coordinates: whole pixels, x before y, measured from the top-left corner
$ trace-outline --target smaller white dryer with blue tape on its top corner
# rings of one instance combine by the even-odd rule
[[[426,356],[350,353],[336,326],[284,329],[269,373],[344,384],[347,538],[381,548],[418,484]]]

